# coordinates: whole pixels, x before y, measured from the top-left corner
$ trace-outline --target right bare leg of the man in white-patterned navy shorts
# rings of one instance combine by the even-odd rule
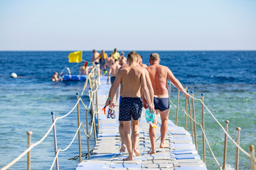
[[[139,119],[134,120],[132,118],[132,151],[136,156],[140,156],[139,153]]]

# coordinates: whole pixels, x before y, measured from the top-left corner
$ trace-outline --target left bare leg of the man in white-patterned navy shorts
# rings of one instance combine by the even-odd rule
[[[124,140],[125,140],[125,144],[127,145],[127,151],[129,154],[129,156],[123,160],[124,161],[133,161],[132,140],[131,140],[131,136],[130,136],[131,124],[130,124],[130,121],[122,121],[122,123],[124,125]]]

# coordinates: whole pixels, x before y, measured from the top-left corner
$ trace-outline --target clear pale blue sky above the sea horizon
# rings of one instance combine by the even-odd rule
[[[0,50],[256,50],[255,0],[0,0]]]

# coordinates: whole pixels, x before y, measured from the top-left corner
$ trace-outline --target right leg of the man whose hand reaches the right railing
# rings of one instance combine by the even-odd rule
[[[169,147],[169,144],[164,142],[168,130],[168,119],[169,119],[169,110],[159,111],[161,116],[161,144],[160,148]]]

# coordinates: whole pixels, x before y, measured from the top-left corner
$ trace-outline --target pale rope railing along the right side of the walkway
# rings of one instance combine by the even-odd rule
[[[174,84],[173,84],[173,85],[174,85]],[[170,92],[169,92],[169,93],[170,93]],[[178,93],[179,93],[179,91],[178,91]],[[225,132],[225,135],[227,135],[227,137],[235,144],[235,146],[236,146],[240,151],[242,151],[247,157],[250,157],[250,158],[251,158],[251,160],[252,160],[252,162],[253,162],[252,167],[255,167],[254,164],[255,164],[255,162],[256,162],[256,159],[255,159],[255,157],[252,158],[252,153],[249,154],[248,152],[246,152],[245,149],[242,149],[242,147],[240,147],[240,145],[238,145],[238,143],[235,142],[235,140],[233,140],[232,137],[230,137],[230,135],[228,134],[228,131],[227,131],[228,129],[225,130],[225,128],[223,128],[223,125],[220,124],[220,122],[215,118],[215,116],[213,115],[213,113],[208,109],[208,107],[206,106],[206,104],[205,104],[200,98],[194,98],[193,96],[191,96],[191,98],[193,98],[194,100],[200,101],[200,102],[202,103],[202,107],[203,107],[203,108],[206,108],[206,110],[208,111],[208,113],[210,113],[210,115],[213,117],[213,119],[215,120],[215,122],[218,123],[218,125],[220,125],[220,128],[223,130],[223,132]],[[211,154],[213,155],[213,158],[215,159],[215,162],[218,164],[218,166],[219,166],[220,169],[225,169],[225,166],[223,166],[223,168],[222,168],[222,167],[220,166],[220,163],[219,163],[218,160],[216,159],[216,157],[215,157],[215,155],[214,155],[214,153],[213,153],[213,150],[212,150],[212,148],[210,147],[210,144],[209,144],[208,139],[207,139],[207,137],[206,137],[206,132],[205,132],[205,130],[204,130],[204,128],[203,128],[202,123],[198,123],[194,118],[191,117],[190,114],[187,113],[186,110],[183,110],[183,109],[181,109],[181,108],[178,108],[178,103],[177,103],[177,106],[176,106],[176,105],[171,101],[171,98],[169,99],[169,101],[170,101],[170,103],[177,109],[177,111],[183,111],[183,113],[185,113],[185,115],[188,116],[194,123],[196,123],[197,125],[200,125],[200,128],[201,128],[201,130],[202,130],[202,132],[203,132],[204,138],[206,139],[206,142],[207,142],[207,144],[208,144],[208,147],[209,147],[209,149],[210,149]],[[188,102],[189,102],[189,100],[188,100]],[[178,115],[176,115],[176,116],[178,116]],[[177,119],[177,118],[176,118],[176,119]],[[192,130],[192,132],[193,132],[193,130]],[[193,137],[193,136],[192,136],[192,137]],[[225,147],[226,147],[226,146],[225,146]],[[251,162],[251,164],[252,164],[252,162]],[[223,163],[223,164],[224,164],[224,163]]]

